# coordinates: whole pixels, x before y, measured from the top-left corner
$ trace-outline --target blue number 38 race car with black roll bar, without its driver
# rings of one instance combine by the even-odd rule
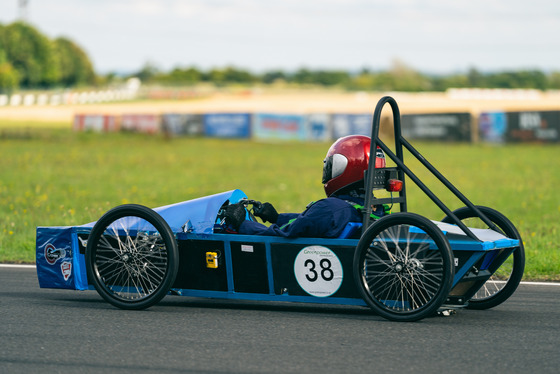
[[[393,109],[393,153],[378,138],[380,113]],[[389,320],[416,321],[442,310],[487,309],[516,290],[524,270],[523,242],[501,213],[476,206],[422,157],[400,132],[394,99],[374,112],[371,151],[396,164],[370,162],[362,223],[338,238],[282,238],[227,233],[230,204],[254,219],[258,201],[233,190],[150,209],[122,205],[97,222],[38,227],[36,262],[45,288],[95,289],[122,309],[144,309],[168,294],[237,300],[363,305]],[[404,164],[414,155],[464,204],[451,211]],[[375,154],[375,152],[371,152]],[[407,211],[405,177],[445,214],[440,222]],[[393,193],[398,192],[398,196]],[[373,206],[400,211],[371,218]]]

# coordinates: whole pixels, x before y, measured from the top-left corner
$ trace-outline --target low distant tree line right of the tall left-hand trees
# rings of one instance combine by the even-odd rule
[[[544,73],[539,70],[520,70],[484,73],[476,68],[466,73],[450,75],[424,74],[400,61],[384,71],[362,69],[357,72],[344,70],[311,70],[300,68],[293,72],[282,70],[254,74],[235,67],[200,70],[196,67],[175,67],[165,72],[146,64],[135,72],[145,83],[164,85],[193,85],[210,82],[228,84],[274,84],[284,82],[295,85],[339,87],[365,91],[445,91],[448,88],[505,88],[505,89],[560,89],[560,71]]]

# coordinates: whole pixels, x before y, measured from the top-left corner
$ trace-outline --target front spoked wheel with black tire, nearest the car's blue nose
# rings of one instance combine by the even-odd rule
[[[177,241],[152,209],[121,205],[95,224],[86,248],[88,280],[99,295],[121,309],[159,302],[175,281]]]

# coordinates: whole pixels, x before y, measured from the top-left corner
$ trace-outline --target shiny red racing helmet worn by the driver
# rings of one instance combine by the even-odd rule
[[[327,196],[364,179],[370,147],[371,139],[364,135],[345,136],[331,145],[323,161],[323,184]],[[375,167],[385,167],[385,154],[379,147]]]

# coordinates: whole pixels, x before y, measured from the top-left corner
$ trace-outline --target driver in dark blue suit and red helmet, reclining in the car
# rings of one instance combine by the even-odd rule
[[[329,148],[323,161],[323,184],[326,198],[309,204],[302,213],[278,213],[270,203],[254,209],[254,215],[266,226],[246,220],[245,207],[238,203],[226,208],[226,222],[244,235],[271,235],[288,238],[336,238],[348,222],[362,222],[365,200],[364,173],[368,169],[370,138],[350,135],[338,139]],[[385,167],[385,155],[377,150],[376,168]],[[373,216],[388,212],[384,206],[374,207]]]

